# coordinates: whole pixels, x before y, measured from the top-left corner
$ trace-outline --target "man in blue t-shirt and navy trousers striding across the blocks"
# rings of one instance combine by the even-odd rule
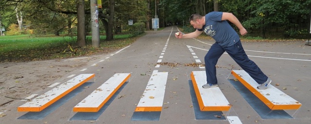
[[[176,38],[195,38],[202,32],[205,32],[216,41],[210,47],[204,58],[207,84],[204,84],[202,87],[218,87],[215,65],[221,55],[226,51],[230,57],[259,84],[257,87],[258,89],[267,89],[268,85],[272,82],[271,79],[261,72],[255,62],[248,59],[238,33],[234,31],[226,20],[237,26],[240,29],[241,35],[247,33],[246,29],[233,14],[210,12],[205,16],[198,14],[190,16],[190,24],[196,31],[188,34],[182,34],[181,32],[175,34]]]

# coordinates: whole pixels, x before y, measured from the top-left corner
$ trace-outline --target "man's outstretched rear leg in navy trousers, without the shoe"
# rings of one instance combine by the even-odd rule
[[[263,74],[257,64],[248,59],[241,41],[231,47],[225,47],[225,51],[247,72],[258,84],[265,83],[268,77]]]

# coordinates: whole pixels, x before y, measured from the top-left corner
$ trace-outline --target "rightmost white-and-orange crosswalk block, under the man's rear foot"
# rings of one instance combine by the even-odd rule
[[[301,107],[301,103],[273,85],[269,85],[265,90],[257,89],[258,83],[244,70],[232,70],[231,74],[272,110],[299,109]]]

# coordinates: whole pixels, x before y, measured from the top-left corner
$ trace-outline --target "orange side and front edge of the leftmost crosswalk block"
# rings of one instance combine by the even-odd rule
[[[90,77],[84,79],[83,81],[81,81],[80,83],[78,83],[77,85],[73,86],[72,88],[70,88],[69,90],[65,91],[64,93],[58,95],[56,98],[50,100],[48,103],[46,103],[45,105],[41,106],[41,107],[18,107],[17,111],[41,111],[47,107],[49,107],[50,105],[52,105],[54,102],[56,102],[57,100],[59,100],[60,98],[64,97],[66,94],[70,93],[71,91],[73,91],[74,89],[76,89],[77,87],[81,86],[82,84],[84,84],[86,81],[88,81],[91,78],[94,78],[95,74],[91,75]],[[39,109],[38,109],[39,108]]]

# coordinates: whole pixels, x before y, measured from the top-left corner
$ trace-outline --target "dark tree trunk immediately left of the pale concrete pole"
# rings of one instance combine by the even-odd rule
[[[78,46],[86,45],[86,28],[85,28],[85,12],[84,12],[84,0],[77,0],[77,16],[78,16]]]

